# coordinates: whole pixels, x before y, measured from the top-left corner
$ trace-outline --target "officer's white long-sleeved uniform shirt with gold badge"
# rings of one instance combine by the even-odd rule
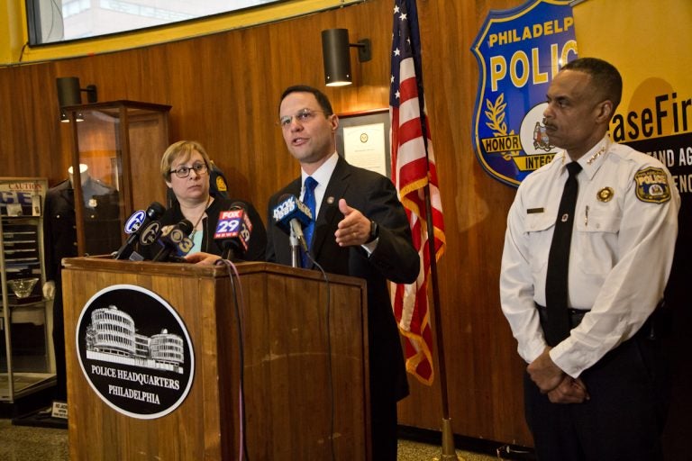
[[[527,176],[507,216],[500,298],[519,355],[527,363],[546,348],[534,302],[545,305],[548,252],[569,161],[559,153]],[[632,338],[663,297],[680,206],[678,190],[659,160],[612,143],[607,136],[578,161],[583,170],[577,176],[568,304],[590,312],[550,352],[552,361],[572,377]],[[656,168],[651,170],[654,185],[651,190],[640,187],[638,194],[635,176],[649,167]],[[639,176],[648,186],[647,177]],[[664,178],[663,189],[655,184],[656,177]],[[669,194],[669,200],[647,195],[657,192]]]

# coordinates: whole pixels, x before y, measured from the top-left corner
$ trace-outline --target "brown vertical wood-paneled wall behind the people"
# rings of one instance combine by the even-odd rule
[[[478,65],[470,46],[490,9],[517,0],[419,0],[425,95],[432,123],[448,248],[440,271],[450,415],[454,432],[531,445],[524,425],[523,364],[499,308],[505,214],[514,189],[488,176],[471,143]],[[387,107],[391,0],[281,23],[105,55],[0,69],[2,176],[67,177],[70,137],[58,122],[55,78],[95,84],[100,101],[170,104],[171,141],[200,140],[223,168],[232,193],[263,212],[269,195],[298,174],[274,124],[288,85],[321,87],[337,113]],[[351,54],[354,85],[323,86],[320,32],[368,37],[373,59]],[[140,168],[158,168],[141,159]],[[439,429],[439,380],[410,379],[402,424]]]

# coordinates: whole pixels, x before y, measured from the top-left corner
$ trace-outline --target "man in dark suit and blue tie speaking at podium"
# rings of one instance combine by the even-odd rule
[[[408,383],[387,280],[412,283],[420,271],[404,207],[387,177],[353,167],[337,154],[334,132],[339,119],[319,90],[287,88],[279,124],[302,175],[269,199],[269,222],[284,194],[305,201],[301,185],[307,176],[316,180],[310,254],[328,273],[368,281],[373,459],[396,460],[396,402],[408,394]],[[267,260],[290,265],[289,237],[277,226],[268,227]]]

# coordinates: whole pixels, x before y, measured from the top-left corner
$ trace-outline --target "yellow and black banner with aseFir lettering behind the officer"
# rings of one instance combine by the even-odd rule
[[[611,136],[659,158],[682,197],[675,262],[665,293],[668,309],[662,311],[674,312],[670,324],[683,326],[666,330],[664,334],[670,331],[672,336],[666,341],[687,345],[686,329],[692,322],[692,1],[586,0],[573,5],[573,12],[579,57],[605,59],[623,76],[623,101],[616,113],[619,118],[611,123]],[[644,175],[645,171],[637,179]],[[642,194],[641,187],[637,194]],[[677,376],[673,401],[678,402],[670,407],[663,435],[665,455],[671,459],[686,453],[689,441],[689,431],[682,428],[688,428],[686,409],[692,398],[682,390],[687,389],[684,377],[692,374],[692,362],[684,349],[669,348]]]

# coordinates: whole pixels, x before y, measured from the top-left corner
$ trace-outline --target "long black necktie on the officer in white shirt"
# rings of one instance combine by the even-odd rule
[[[571,162],[567,165],[567,169],[569,177],[560,199],[560,209],[555,221],[555,231],[552,234],[551,251],[548,256],[548,274],[545,278],[547,318],[543,333],[549,346],[555,346],[562,339],[567,338],[571,329],[567,306],[569,246],[572,240],[572,224],[574,224],[574,210],[579,188],[577,175],[581,171],[581,165]]]

